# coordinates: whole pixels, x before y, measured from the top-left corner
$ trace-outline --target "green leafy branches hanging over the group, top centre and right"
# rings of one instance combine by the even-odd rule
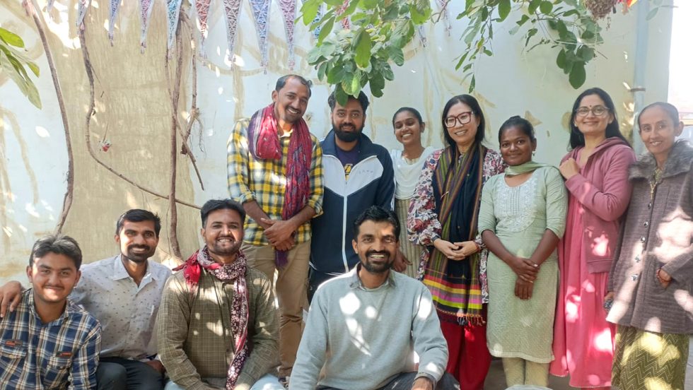
[[[323,4],[327,11],[318,18]],[[310,30],[320,29],[308,63],[318,69],[320,80],[336,86],[337,100],[343,103],[367,84],[375,97],[382,96],[385,81],[395,77],[390,63],[402,66],[402,49],[417,26],[439,19],[442,11],[433,13],[428,0],[306,0],[301,13]],[[465,0],[457,18],[467,19],[468,24],[460,37],[464,49],[455,69],[462,69],[465,79],[471,77],[470,91],[476,84],[474,64],[482,56],[494,55],[494,26],[508,23],[511,16],[515,20],[510,33],[522,31],[527,51],[549,45],[557,50],[556,65],[573,88],[585,83],[585,66],[603,40],[600,26],[581,1]],[[347,17],[349,29],[334,28]]]

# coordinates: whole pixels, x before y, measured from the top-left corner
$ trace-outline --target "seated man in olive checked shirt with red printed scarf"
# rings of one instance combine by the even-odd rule
[[[279,390],[279,321],[272,283],[240,251],[245,211],[214,200],[202,206],[205,246],[176,268],[156,319],[166,390]]]

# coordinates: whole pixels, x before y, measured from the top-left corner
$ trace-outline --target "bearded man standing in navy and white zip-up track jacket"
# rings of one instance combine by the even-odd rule
[[[325,193],[322,215],[311,220],[309,299],[320,283],[359,263],[351,246],[356,217],[373,205],[392,210],[395,199],[390,153],[363,134],[366,95],[350,96],[342,106],[333,92],[327,104],[332,130],[320,141]]]

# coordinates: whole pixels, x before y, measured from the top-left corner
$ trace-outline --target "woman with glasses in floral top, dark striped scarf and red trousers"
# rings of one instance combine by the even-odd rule
[[[424,163],[409,206],[409,240],[424,246],[424,284],[448,341],[447,371],[461,389],[477,390],[491,365],[486,345],[488,285],[477,215],[484,183],[505,169],[501,155],[482,145],[484,114],[471,95],[443,109],[447,146]],[[486,255],[487,252],[483,251]]]

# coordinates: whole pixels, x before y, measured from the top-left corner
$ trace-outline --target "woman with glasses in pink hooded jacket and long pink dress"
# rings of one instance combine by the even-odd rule
[[[628,207],[633,149],[619,131],[614,102],[600,88],[581,93],[570,117],[571,151],[559,170],[569,193],[559,242],[560,285],[550,372],[570,385],[609,388],[615,327],[604,309],[621,216]]]

